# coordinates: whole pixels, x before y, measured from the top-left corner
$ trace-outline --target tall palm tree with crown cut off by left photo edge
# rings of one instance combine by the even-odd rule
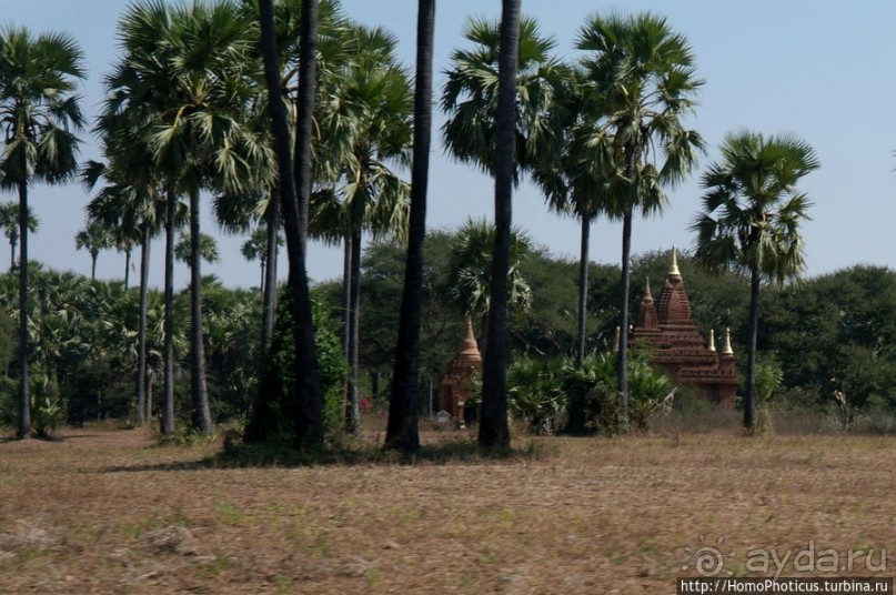
[[[83,125],[72,93],[84,77],[83,54],[60,33],[32,37],[27,29],[0,29],[0,125],[6,144],[0,185],[19,193],[19,397],[18,436],[31,435],[28,396],[28,186],[62,183],[77,171]]]

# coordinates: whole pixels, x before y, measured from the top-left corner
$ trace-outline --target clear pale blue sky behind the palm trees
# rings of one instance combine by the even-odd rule
[[[57,30],[72,34],[88,59],[84,109],[97,112],[101,79],[115,60],[115,23],[124,0],[2,0],[7,22],[33,32]],[[461,31],[470,14],[497,18],[501,2],[441,0],[436,11],[436,87],[447,68],[452,49],[462,43]],[[414,0],[343,0],[346,12],[368,24],[383,24],[401,40],[400,51],[410,67],[414,61],[416,2]],[[817,275],[856,263],[896,268],[890,229],[896,221],[896,2],[865,0],[638,0],[596,2],[584,0],[523,0],[523,10],[542,31],[555,36],[558,51],[575,59],[573,40],[585,17],[595,10],[634,12],[651,10],[668,18],[691,41],[698,75],[706,83],[691,125],[709,144],[699,169],[671,193],[662,218],[637,220],[635,253],[666,250],[672,244],[689,249],[687,228],[699,208],[697,179],[715,159],[725,133],[749,129],[764,133],[794,132],[812,143],[822,169],[805,179],[803,188],[815,206],[805,226],[808,274]],[[436,98],[439,95],[436,89]],[[436,123],[443,118],[436,115]],[[92,139],[82,158],[95,158]],[[430,178],[431,228],[454,226],[467,215],[490,216],[492,181],[459,165],[436,144]],[[2,200],[13,200],[8,194]],[[41,221],[31,244],[32,256],[61,270],[90,271],[90,258],[74,250],[74,233],[83,226],[89,196],[77,184],[62,189],[36,186],[32,206]],[[205,211],[209,211],[205,203]],[[514,221],[537,242],[574,259],[578,251],[575,222],[547,213],[538,192],[527,184],[514,195]],[[618,262],[621,225],[601,221],[592,231],[592,259]],[[208,221],[205,231],[217,233]],[[256,264],[239,252],[241,238],[222,240],[222,262],[205,266],[229,285],[258,283]],[[153,246],[153,284],[161,284],[161,249]],[[0,248],[0,255],[3,249]],[[309,270],[316,280],[339,276],[338,249],[312,246]],[[0,260],[1,262],[2,260]],[[123,256],[102,253],[99,275],[121,278]],[[178,282],[187,280],[185,268]],[[285,266],[283,268],[285,269]]]

